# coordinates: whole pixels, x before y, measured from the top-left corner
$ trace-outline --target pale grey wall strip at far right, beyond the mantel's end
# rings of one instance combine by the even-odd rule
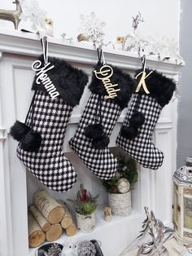
[[[178,126],[177,126],[177,167],[185,165],[186,157],[192,155],[192,119],[189,115],[192,109],[192,51],[191,51],[191,16],[192,2],[181,0],[181,33],[180,51],[185,60],[179,80],[179,104],[178,104]]]

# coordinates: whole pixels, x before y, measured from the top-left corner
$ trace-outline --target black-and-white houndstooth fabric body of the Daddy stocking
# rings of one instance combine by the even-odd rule
[[[76,134],[69,141],[69,145],[72,150],[76,152],[77,156],[85,163],[85,166],[98,176],[98,178],[111,179],[117,170],[116,158],[110,152],[109,148],[93,148],[91,139],[88,139],[84,135],[85,127],[94,123],[98,97],[99,96],[96,94],[90,95],[84,113],[81,116]],[[111,100],[104,99],[104,96],[102,96],[101,100],[103,102],[101,108],[102,123],[106,135],[110,136],[116,121],[120,116],[121,109],[117,104],[111,102]]]

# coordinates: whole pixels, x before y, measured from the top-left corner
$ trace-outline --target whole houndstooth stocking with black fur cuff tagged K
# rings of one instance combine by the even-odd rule
[[[136,76],[141,72],[138,70]],[[151,70],[146,69],[146,75],[149,73]],[[146,94],[141,87],[142,90],[133,94],[116,144],[142,166],[156,170],[163,164],[164,153],[152,142],[153,131],[162,108],[172,99],[176,85],[155,70],[145,82],[150,93]]]

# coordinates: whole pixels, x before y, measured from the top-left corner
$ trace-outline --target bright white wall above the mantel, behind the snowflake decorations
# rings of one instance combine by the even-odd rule
[[[11,0],[1,0],[0,8],[14,8]],[[145,20],[140,26],[142,33],[152,37],[178,38],[180,0],[39,0],[40,7],[54,20],[55,36],[67,33],[76,38],[80,27],[80,14],[95,11],[99,20],[106,22],[106,40],[111,41],[118,35],[132,32],[132,16],[137,11]],[[13,29],[13,24],[0,20],[0,27]],[[22,24],[20,24],[21,28]]]

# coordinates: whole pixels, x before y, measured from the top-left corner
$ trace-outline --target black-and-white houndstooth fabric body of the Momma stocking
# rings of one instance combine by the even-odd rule
[[[38,152],[26,152],[17,148],[17,156],[46,185],[57,192],[68,191],[76,183],[76,171],[63,155],[63,139],[71,117],[72,107],[63,99],[50,99],[43,91],[37,91],[34,100],[33,130],[41,134],[41,147]],[[30,126],[32,109],[26,125]]]

